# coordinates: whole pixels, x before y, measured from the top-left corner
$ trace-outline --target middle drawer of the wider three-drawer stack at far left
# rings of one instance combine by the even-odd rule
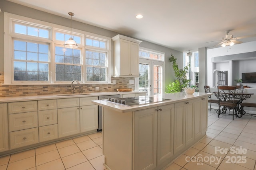
[[[37,111],[9,115],[9,131],[38,127]]]

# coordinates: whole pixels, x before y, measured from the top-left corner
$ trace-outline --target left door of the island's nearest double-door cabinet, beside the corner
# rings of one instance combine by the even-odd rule
[[[134,169],[156,168],[157,107],[134,111]],[[140,150],[143,148],[143,151]]]

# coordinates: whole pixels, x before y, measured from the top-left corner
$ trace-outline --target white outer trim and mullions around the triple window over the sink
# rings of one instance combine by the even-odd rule
[[[45,27],[47,29],[52,29],[52,34],[50,33],[49,35],[49,39],[45,39],[45,38],[41,38],[41,37],[34,37],[33,40],[35,39],[38,39],[39,41],[42,41],[42,42],[48,42],[50,43],[50,65],[49,65],[49,68],[50,68],[50,72],[49,72],[49,81],[50,83],[42,83],[40,81],[38,82],[27,82],[26,83],[13,83],[12,82],[12,60],[10,60],[9,58],[10,57],[13,57],[13,52],[12,52],[12,37],[16,37],[14,34],[12,34],[12,21],[19,21],[19,20],[22,20],[22,21],[25,21],[27,22],[28,24],[29,23],[32,23],[33,25],[39,25],[39,26],[42,26],[42,27]],[[47,25],[47,26],[45,26]],[[18,16],[16,14],[11,14],[11,13],[8,13],[8,12],[4,12],[4,84],[2,85],[22,85],[22,84],[26,84],[26,85],[34,85],[34,84],[42,84],[42,85],[47,85],[47,84],[69,84],[70,82],[69,81],[65,81],[63,83],[55,83],[54,80],[55,80],[55,57],[54,57],[54,43],[55,44],[63,44],[62,42],[58,42],[58,41],[55,41],[53,42],[53,37],[52,36],[55,36],[55,31],[61,31],[63,33],[69,33],[69,30],[70,27],[65,27],[65,26],[62,26],[62,25],[57,25],[57,24],[53,24],[53,23],[48,23],[48,22],[45,22],[45,21],[40,21],[40,20],[35,20],[35,19],[32,19],[32,18],[27,18],[27,17],[24,17],[24,16]],[[108,62],[108,69],[107,69],[107,81],[106,82],[86,82],[86,69],[85,67],[82,68],[82,80],[80,83],[82,84],[111,84],[111,38],[110,37],[106,37],[106,36],[103,36],[103,35],[98,35],[98,34],[94,34],[94,33],[89,33],[89,32],[86,32],[86,31],[82,31],[82,30],[78,30],[78,29],[74,29],[72,28],[72,35],[76,35],[76,36],[81,36],[81,44],[78,44],[78,47],[82,48],[82,51],[81,51],[81,58],[82,58],[82,66],[84,66],[85,64],[85,59],[84,59],[84,53],[85,53],[85,49],[88,48],[88,46],[85,46],[85,37],[91,37],[91,38],[96,38],[96,39],[102,39],[104,41],[106,41],[106,50],[104,50],[104,52],[107,53],[107,62]],[[16,38],[20,38],[22,36],[18,36]],[[26,39],[28,39],[28,37],[26,36]],[[44,39],[44,40],[42,40]],[[89,49],[89,48],[88,48]],[[95,48],[94,48],[95,50]],[[97,49],[97,51],[99,51],[99,49]]]

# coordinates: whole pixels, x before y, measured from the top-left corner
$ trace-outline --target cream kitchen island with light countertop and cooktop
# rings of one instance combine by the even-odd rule
[[[103,107],[104,165],[110,170],[167,167],[206,135],[209,94],[154,95],[168,100],[136,106],[92,101]]]

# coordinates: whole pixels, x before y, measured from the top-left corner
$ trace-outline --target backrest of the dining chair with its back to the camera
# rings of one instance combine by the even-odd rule
[[[234,103],[236,96],[236,86],[218,86],[219,102],[232,101]]]

